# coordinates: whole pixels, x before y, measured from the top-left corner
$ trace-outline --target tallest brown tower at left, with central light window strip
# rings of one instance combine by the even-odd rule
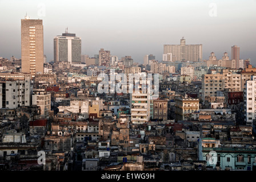
[[[21,19],[22,73],[43,73],[43,20]]]

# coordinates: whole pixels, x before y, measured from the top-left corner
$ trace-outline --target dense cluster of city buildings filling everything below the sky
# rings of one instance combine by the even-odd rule
[[[182,38],[162,60],[138,64],[103,48],[81,55],[82,39],[66,31],[47,62],[42,20],[21,23],[21,59],[0,57],[2,170],[256,170],[256,68],[239,47],[231,60],[203,60],[202,44]],[[158,75],[157,97],[143,80],[100,92],[104,76],[113,91],[119,73]]]

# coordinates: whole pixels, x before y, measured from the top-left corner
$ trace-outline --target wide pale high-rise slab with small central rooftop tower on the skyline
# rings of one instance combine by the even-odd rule
[[[171,53],[172,61],[201,61],[202,44],[186,45],[186,39],[182,38],[180,45],[164,45],[163,53]]]

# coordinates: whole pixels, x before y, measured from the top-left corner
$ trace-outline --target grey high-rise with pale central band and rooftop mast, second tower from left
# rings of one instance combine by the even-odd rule
[[[54,38],[54,61],[81,64],[82,40],[67,31]]]

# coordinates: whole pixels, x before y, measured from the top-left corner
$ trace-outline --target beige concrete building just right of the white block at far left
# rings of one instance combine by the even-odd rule
[[[45,89],[34,89],[32,105],[40,106],[42,119],[48,118],[51,110],[51,94]]]

